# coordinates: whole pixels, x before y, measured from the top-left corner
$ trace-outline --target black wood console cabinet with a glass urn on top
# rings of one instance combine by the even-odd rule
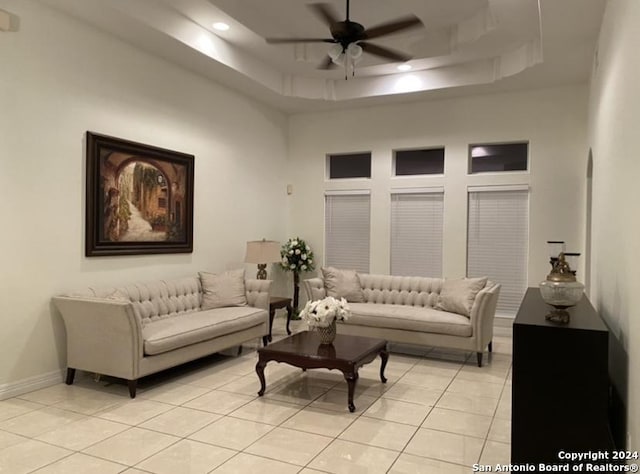
[[[609,331],[586,296],[569,324],[529,288],[513,325],[511,462],[559,463],[559,451],[611,451]]]

